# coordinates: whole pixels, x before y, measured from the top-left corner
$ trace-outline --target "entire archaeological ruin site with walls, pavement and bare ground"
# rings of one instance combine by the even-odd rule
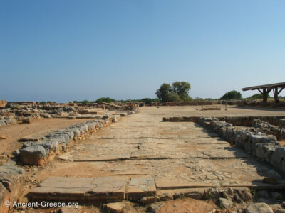
[[[1,104],[0,212],[285,211],[283,108]]]

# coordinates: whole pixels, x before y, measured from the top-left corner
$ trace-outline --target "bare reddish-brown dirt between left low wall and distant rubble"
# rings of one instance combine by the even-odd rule
[[[0,154],[4,151],[7,154],[13,153],[18,148],[21,148],[21,143],[18,142],[20,138],[31,135],[33,133],[42,132],[42,136],[45,136],[45,132],[48,130],[62,129],[66,126],[73,124],[83,123],[92,119],[38,119],[31,124],[14,124],[9,126],[0,127],[0,136],[6,137],[6,139],[0,140]]]

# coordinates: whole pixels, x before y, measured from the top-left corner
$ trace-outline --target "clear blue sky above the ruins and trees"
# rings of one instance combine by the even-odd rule
[[[284,74],[283,0],[0,0],[0,99],[219,98]]]

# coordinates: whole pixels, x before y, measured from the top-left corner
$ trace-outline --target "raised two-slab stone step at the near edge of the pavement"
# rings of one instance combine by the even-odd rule
[[[140,200],[156,195],[154,178],[144,175],[107,176],[98,178],[50,177],[33,188],[27,197],[31,201],[58,202],[118,202],[125,198]]]

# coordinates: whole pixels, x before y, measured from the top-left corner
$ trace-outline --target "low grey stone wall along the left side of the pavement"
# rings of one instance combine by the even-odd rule
[[[102,129],[103,126],[108,126],[111,122],[117,122],[119,119],[119,114],[109,115],[104,116],[103,119],[86,121],[82,124],[59,129],[48,134],[41,141],[24,142],[23,147],[15,151],[15,155],[19,155],[21,163],[24,165],[43,165],[47,160],[52,160],[56,154],[65,151],[69,143],[80,141],[89,134]]]

